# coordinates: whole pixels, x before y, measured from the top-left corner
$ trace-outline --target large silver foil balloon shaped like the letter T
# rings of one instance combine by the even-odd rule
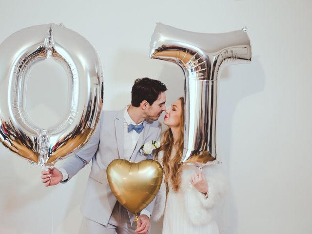
[[[217,79],[226,65],[251,61],[245,29],[205,34],[157,23],[150,57],[178,64],[185,76],[183,163],[215,162]]]

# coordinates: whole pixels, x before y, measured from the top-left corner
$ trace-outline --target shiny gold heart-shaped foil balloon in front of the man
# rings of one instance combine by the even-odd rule
[[[115,159],[106,170],[109,187],[128,211],[137,215],[153,201],[162,182],[161,165],[152,159],[129,162]]]

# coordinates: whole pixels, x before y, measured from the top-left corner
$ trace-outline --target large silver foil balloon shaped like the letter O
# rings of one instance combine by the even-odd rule
[[[25,109],[33,65],[54,59],[68,74],[70,108],[59,123],[41,129]],[[57,92],[56,92],[57,94]],[[62,25],[24,28],[0,44],[0,142],[31,163],[50,166],[85,145],[103,104],[101,62],[94,47]]]

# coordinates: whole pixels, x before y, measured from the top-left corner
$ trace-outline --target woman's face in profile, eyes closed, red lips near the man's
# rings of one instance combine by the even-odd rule
[[[182,103],[181,100],[177,99],[174,103],[172,103],[171,107],[166,110],[164,124],[170,128],[179,127],[181,115],[182,115]]]

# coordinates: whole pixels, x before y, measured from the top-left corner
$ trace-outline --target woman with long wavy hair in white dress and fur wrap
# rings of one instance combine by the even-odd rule
[[[179,164],[183,117],[183,98],[179,98],[166,111],[164,124],[169,128],[156,152],[156,159],[164,168],[165,185],[157,195],[153,216],[157,220],[164,212],[163,234],[219,234],[215,205],[225,192],[226,179],[221,164],[204,166],[202,171],[193,165]]]

